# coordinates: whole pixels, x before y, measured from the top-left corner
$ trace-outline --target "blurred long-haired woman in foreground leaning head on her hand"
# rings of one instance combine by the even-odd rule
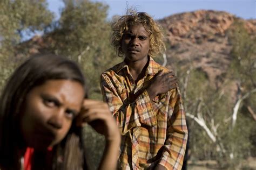
[[[0,169],[86,169],[85,123],[106,138],[99,169],[116,169],[117,125],[107,104],[85,99],[85,89],[79,67],[62,56],[19,66],[0,101]]]

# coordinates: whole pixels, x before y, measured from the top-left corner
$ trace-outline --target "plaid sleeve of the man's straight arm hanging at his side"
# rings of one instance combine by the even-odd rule
[[[167,137],[159,161],[167,169],[181,169],[187,143],[185,111],[178,88],[171,90],[167,122]]]

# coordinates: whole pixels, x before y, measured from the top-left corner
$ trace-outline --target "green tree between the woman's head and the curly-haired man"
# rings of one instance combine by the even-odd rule
[[[108,6],[90,1],[64,1],[61,17],[49,36],[55,42],[52,51],[77,61],[87,78],[91,98],[101,99],[99,75],[119,58],[111,49]]]

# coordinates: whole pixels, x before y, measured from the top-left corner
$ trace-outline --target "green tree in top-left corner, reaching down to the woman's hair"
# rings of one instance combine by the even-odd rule
[[[45,0],[0,1],[0,87],[16,66],[15,47],[26,33],[43,31],[53,14]]]

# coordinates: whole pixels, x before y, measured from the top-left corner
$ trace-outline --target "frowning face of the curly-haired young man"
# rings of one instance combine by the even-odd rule
[[[147,59],[150,49],[150,34],[142,24],[129,26],[122,38],[122,52],[128,61]]]

